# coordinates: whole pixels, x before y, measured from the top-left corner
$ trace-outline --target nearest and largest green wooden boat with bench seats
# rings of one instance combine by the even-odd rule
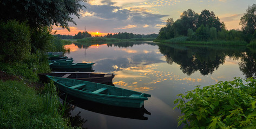
[[[112,87],[106,84],[73,80],[47,75],[61,91],[78,97],[113,106],[140,108],[151,95],[142,92]]]

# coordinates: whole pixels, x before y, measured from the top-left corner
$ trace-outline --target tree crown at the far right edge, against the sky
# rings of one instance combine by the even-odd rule
[[[256,30],[256,4],[248,6],[246,13],[240,19],[242,30],[248,34],[253,34]]]

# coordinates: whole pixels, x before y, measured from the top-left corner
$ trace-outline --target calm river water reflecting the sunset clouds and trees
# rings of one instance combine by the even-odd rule
[[[83,127],[89,129],[177,128],[180,111],[173,110],[176,95],[185,94],[196,85],[230,81],[233,77],[255,77],[256,72],[256,54],[248,48],[171,47],[154,42],[91,46],[74,43],[65,47],[70,48],[66,56],[74,62],[95,62],[94,72],[114,73],[115,87],[152,95],[145,101],[145,109],[150,113],[111,110],[104,105],[76,101],[71,114],[78,113],[87,120]]]

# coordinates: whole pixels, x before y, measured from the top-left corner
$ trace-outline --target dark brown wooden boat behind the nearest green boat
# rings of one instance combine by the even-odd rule
[[[101,73],[88,73],[88,72],[56,72],[56,73],[47,73],[47,74],[38,74],[38,75],[40,77],[40,80],[42,80],[43,82],[47,82],[48,77],[46,75],[50,75],[50,76],[56,76],[56,77],[102,83],[102,84],[113,84],[112,80],[115,76],[114,74],[101,74]]]

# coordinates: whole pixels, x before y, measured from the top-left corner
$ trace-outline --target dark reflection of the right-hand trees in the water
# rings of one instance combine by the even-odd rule
[[[180,64],[180,69],[187,75],[200,71],[202,75],[213,74],[226,56],[233,60],[241,59],[240,70],[248,77],[256,74],[256,51],[245,47],[206,47],[206,46],[167,46],[157,44],[159,51],[166,57],[166,62]]]

